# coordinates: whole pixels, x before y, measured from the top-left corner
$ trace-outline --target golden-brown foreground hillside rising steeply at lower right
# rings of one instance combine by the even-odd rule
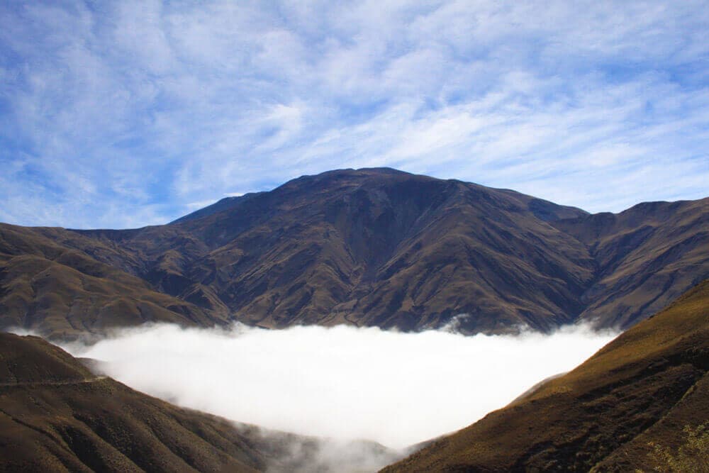
[[[684,426],[709,419],[708,370],[705,281],[568,374],[382,471],[654,471],[650,443],[676,449]]]

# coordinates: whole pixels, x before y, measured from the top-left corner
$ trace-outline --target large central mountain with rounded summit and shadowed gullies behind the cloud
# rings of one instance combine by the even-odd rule
[[[135,274],[248,323],[404,329],[472,313],[471,330],[546,330],[581,307],[584,245],[547,220],[583,211],[393,169],[295,179],[206,215],[82,232],[133,251]],[[192,298],[192,299],[190,299]]]

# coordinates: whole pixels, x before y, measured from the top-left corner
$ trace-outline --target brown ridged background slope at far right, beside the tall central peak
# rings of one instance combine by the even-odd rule
[[[588,247],[598,269],[581,318],[627,328],[707,277],[709,199],[647,202],[617,215],[552,223]]]

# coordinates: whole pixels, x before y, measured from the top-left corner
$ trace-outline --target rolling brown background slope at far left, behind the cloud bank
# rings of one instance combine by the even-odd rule
[[[203,308],[154,291],[143,279],[43,235],[59,231],[65,230],[0,225],[1,326],[73,338],[149,321],[202,326],[221,322]],[[94,241],[86,246],[107,255],[105,260],[113,257],[110,248]]]

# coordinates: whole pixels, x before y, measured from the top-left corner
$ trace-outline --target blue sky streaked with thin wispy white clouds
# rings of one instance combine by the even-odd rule
[[[0,221],[165,223],[390,166],[585,208],[709,195],[706,1],[0,5]]]

